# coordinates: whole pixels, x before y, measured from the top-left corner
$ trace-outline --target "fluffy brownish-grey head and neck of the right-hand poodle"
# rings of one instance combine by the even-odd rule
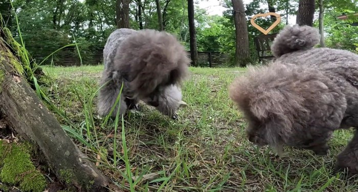
[[[326,142],[346,110],[342,91],[323,73],[283,62],[250,68],[232,83],[230,97],[248,120],[250,141],[317,154],[327,152]]]

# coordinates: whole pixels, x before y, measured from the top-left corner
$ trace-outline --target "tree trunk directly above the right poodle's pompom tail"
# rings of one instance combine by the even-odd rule
[[[312,27],[314,15],[315,0],[300,0],[298,3],[296,24],[299,26],[307,25]]]

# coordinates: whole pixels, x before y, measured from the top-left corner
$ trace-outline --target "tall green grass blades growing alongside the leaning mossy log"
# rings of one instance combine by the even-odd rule
[[[49,78],[50,80],[48,81],[48,83],[44,84],[41,87],[37,77],[35,76],[35,71],[40,67],[47,67],[46,65],[43,65],[43,63],[46,60],[51,58],[51,56],[53,56],[58,51],[66,48],[66,47],[70,47],[70,46],[76,47],[78,56],[80,58],[80,66],[82,66],[83,65],[82,57],[80,55],[80,50],[78,48],[78,43],[76,41],[76,37],[74,36],[75,42],[73,44],[69,44],[69,45],[66,45],[66,46],[63,46],[63,47],[57,49],[50,55],[46,56],[41,62],[36,63],[36,61],[30,61],[30,56],[29,56],[28,51],[26,50],[25,41],[21,34],[17,14],[14,11],[14,6],[13,6],[12,1],[10,1],[10,3],[11,3],[11,7],[13,10],[14,16],[16,18],[17,32],[18,32],[19,38],[20,38],[20,44],[19,44],[20,50],[18,50],[18,52],[19,52],[19,54],[22,54],[21,58],[25,58],[25,60],[21,60],[22,62],[26,62],[26,63],[22,63],[23,67],[24,67],[24,71],[25,71],[25,76],[30,80],[29,83],[32,83],[34,85],[35,92],[36,92],[37,96],[41,100],[43,100],[44,103],[46,103],[49,110],[51,110],[58,116],[58,120],[64,121],[64,123],[61,123],[63,130],[69,136],[71,136],[74,139],[74,141],[80,143],[79,145],[84,148],[83,152],[86,152],[90,158],[92,157],[93,160],[101,161],[104,164],[102,166],[104,166],[105,168],[112,168],[112,169],[117,168],[118,159],[122,159],[126,165],[126,174],[123,174],[123,175],[127,175],[126,179],[128,180],[128,183],[130,184],[130,191],[135,191],[136,183],[138,183],[140,181],[140,178],[135,180],[135,182],[133,182],[133,180],[132,180],[131,168],[130,168],[129,159],[128,159],[129,152],[127,150],[127,146],[126,146],[126,142],[125,142],[123,116],[122,116],[122,121],[119,121],[120,117],[119,117],[119,113],[117,112],[117,116],[115,119],[115,130],[114,130],[115,131],[115,139],[114,139],[115,142],[113,143],[113,148],[114,148],[113,163],[108,162],[106,150],[103,148],[103,145],[106,142],[106,140],[102,140],[102,138],[99,139],[98,134],[97,134],[98,129],[106,129],[106,126],[108,125],[110,116],[113,113],[115,106],[116,105],[120,106],[120,104],[121,104],[120,98],[121,98],[121,93],[122,93],[122,89],[123,89],[123,84],[121,87],[121,91],[117,97],[117,100],[116,100],[114,106],[111,108],[110,113],[106,117],[101,119],[100,123],[98,123],[95,120],[98,118],[96,118],[94,116],[94,114],[96,114],[96,112],[93,108],[93,103],[95,102],[97,92],[102,87],[98,88],[94,93],[88,94],[88,91],[85,90],[85,86],[83,86],[83,84],[82,84],[83,82],[85,82],[85,80],[84,80],[85,77],[83,75],[84,71],[82,71],[82,81],[81,81],[82,83],[78,87],[74,88],[72,91],[75,93],[77,100],[80,101],[80,103],[81,103],[84,119],[81,123],[76,123],[75,121],[70,119],[68,117],[68,115],[62,109],[60,109],[58,106],[56,106],[56,104],[53,102],[51,96],[46,91],[46,89],[50,86],[50,84],[55,83],[54,82],[55,79]],[[51,65],[49,67],[54,67],[53,62],[51,62]],[[118,107],[118,110],[119,109],[120,109],[120,107]],[[83,130],[82,125],[85,126],[85,134],[83,134],[83,132],[82,132],[82,130]],[[121,147],[118,147],[117,142],[116,142],[117,141],[117,131],[119,131],[118,127],[120,125],[122,126],[121,136],[122,136],[122,146],[123,146],[122,151],[124,152],[124,158],[119,156],[120,153],[118,153],[118,150],[120,150]],[[91,153],[88,154],[88,152],[91,152]],[[98,158],[95,158],[96,154],[99,154],[99,157],[101,160]]]

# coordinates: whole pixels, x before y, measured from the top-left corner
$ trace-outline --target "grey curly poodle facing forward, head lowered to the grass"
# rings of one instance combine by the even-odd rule
[[[103,49],[104,70],[98,93],[98,112],[108,115],[120,93],[120,114],[137,109],[139,100],[177,119],[182,82],[190,59],[176,37],[152,29],[117,29]],[[111,117],[116,117],[117,107]]]

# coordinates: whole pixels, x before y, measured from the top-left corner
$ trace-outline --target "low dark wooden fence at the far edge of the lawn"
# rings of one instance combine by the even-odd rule
[[[36,59],[37,62],[46,57],[38,54],[40,52],[41,51],[38,50],[37,53],[32,55],[32,58]],[[81,63],[76,48],[73,47],[63,48],[61,52],[55,56],[58,57],[54,59],[55,66],[79,66]],[[92,51],[92,56],[89,59],[85,58],[85,53],[81,53],[81,56],[84,57],[82,58],[82,63],[85,65],[100,65],[103,62],[103,48]],[[190,58],[189,51],[188,56]],[[229,54],[220,52],[198,52],[198,56],[199,66],[210,68],[228,67],[230,59]],[[51,60],[51,57],[48,58],[48,60]]]

